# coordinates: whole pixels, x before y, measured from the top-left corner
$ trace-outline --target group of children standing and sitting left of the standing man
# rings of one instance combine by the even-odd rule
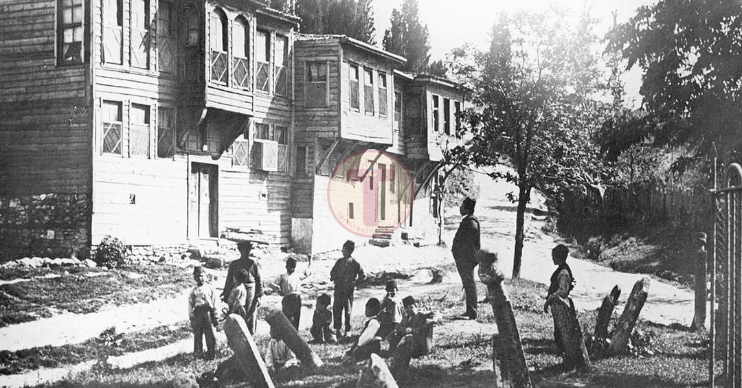
[[[238,249],[244,246],[238,245]],[[351,332],[350,312],[352,311],[353,294],[355,286],[366,277],[361,265],[352,257],[355,243],[348,240],[342,248],[343,257],[335,262],[330,271],[330,280],[334,283],[334,303],[328,294],[319,295],[315,304],[315,312],[312,317],[312,327],[309,333],[312,340],[309,343],[335,343],[347,338]],[[240,249],[246,263],[238,266],[230,266],[228,280],[223,292],[223,300],[226,301],[228,309],[226,314],[237,314],[246,319],[252,318],[252,324],[248,326],[251,334],[254,334],[254,314],[257,298],[255,289],[260,289],[260,275],[257,266],[248,259],[249,249]],[[283,297],[281,309],[292,326],[299,330],[301,318],[301,294],[299,289],[302,281],[311,272],[305,271],[299,275],[296,272],[297,260],[289,257],[286,260],[286,273],[281,274],[271,284],[280,296]],[[240,268],[237,268],[240,267]],[[206,336],[206,358],[213,359],[215,356],[214,328],[217,327],[217,308],[220,303],[217,294],[211,286],[204,282],[203,268],[198,266],[194,269],[194,280],[196,286],[191,290],[188,298],[188,317],[191,320],[191,329],[194,332],[194,353],[203,353],[203,337]],[[249,287],[249,290],[247,289]],[[229,288],[229,290],[228,290]],[[400,300],[397,296],[397,284],[390,280],[386,284],[387,295],[380,302],[375,297],[366,303],[367,321],[358,340],[353,343],[347,354],[354,360],[360,361],[370,356],[372,352],[381,351],[381,341],[389,342],[390,354],[395,349],[402,348],[401,354],[417,357],[427,352],[430,343],[426,343],[427,332],[430,327],[427,319],[430,314],[421,314],[416,310],[416,300],[412,296]],[[262,293],[262,291],[260,292]],[[254,301],[255,300],[255,301]],[[330,304],[332,303],[332,311]],[[250,305],[252,307],[248,307]],[[246,309],[251,309],[247,312]],[[334,318],[334,319],[333,319]],[[334,323],[334,332],[330,328]],[[341,332],[345,326],[345,332]],[[271,340],[266,352],[266,366],[269,370],[280,369],[298,365],[293,352],[278,338],[278,333],[271,329]]]

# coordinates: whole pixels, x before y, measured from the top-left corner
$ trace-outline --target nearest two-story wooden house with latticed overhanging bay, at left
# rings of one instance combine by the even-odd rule
[[[258,0],[0,4],[0,251],[288,244],[297,28]]]

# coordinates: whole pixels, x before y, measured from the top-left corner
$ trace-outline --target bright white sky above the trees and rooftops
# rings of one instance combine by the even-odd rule
[[[430,33],[431,60],[444,59],[455,47],[466,42],[486,49],[489,31],[497,13],[515,10],[548,10],[550,5],[579,13],[582,4],[588,4],[594,18],[600,20],[595,31],[602,36],[613,22],[611,13],[617,11],[619,23],[625,22],[637,7],[649,5],[656,0],[418,0],[420,19],[427,24]],[[373,0],[376,24],[376,41],[381,45],[384,30],[390,26],[392,9],[401,9],[402,0]],[[641,73],[634,69],[623,78],[629,98],[637,100]]]

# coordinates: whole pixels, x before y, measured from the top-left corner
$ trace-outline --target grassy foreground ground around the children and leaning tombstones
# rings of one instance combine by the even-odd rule
[[[703,333],[695,334],[665,326],[640,323],[638,329],[646,340],[643,356],[625,355],[594,360],[585,371],[565,371],[554,348],[551,316],[541,311],[539,295],[543,286],[520,280],[508,283],[516,314],[525,358],[536,387],[697,387],[706,384],[707,346]],[[491,387],[493,372],[490,335],[462,332],[460,321],[445,317],[461,308],[458,289],[441,289],[421,298],[424,309],[440,312],[435,329],[436,347],[430,355],[414,359],[410,375],[400,381],[401,387]],[[592,313],[580,315],[585,332],[592,331]],[[494,325],[488,306],[480,305],[479,322]],[[362,324],[357,318],[354,327]],[[486,326],[491,327],[491,326]],[[302,333],[308,338],[308,333]],[[267,338],[256,338],[261,349]],[[325,361],[316,371],[300,369],[290,375],[279,374],[277,387],[353,387],[360,366],[343,361],[347,344],[312,345]],[[649,350],[649,352],[646,352]],[[202,361],[191,355],[177,355],[168,360],[143,364],[131,369],[93,369],[76,377],[53,384],[53,387],[163,387],[180,372],[200,374],[226,359],[230,351],[220,343],[217,361]],[[236,385],[240,387],[240,385]]]

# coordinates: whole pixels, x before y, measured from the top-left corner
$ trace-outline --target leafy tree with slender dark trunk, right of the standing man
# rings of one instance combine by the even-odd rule
[[[520,277],[525,210],[536,188],[553,198],[576,184],[595,183],[600,160],[591,137],[603,121],[605,76],[599,68],[585,13],[577,26],[561,10],[501,14],[490,50],[453,52],[453,73],[472,91],[464,112],[467,144],[447,162],[493,166],[509,162],[515,173],[488,175],[518,187],[513,278]]]

